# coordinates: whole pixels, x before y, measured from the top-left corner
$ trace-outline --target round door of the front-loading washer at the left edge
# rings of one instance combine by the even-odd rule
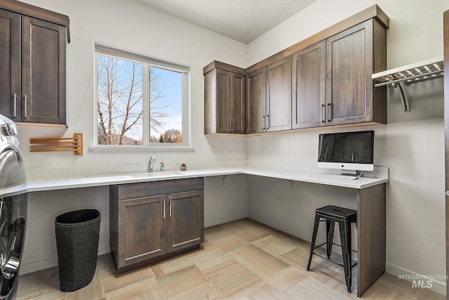
[[[25,184],[22,157],[7,148],[0,154],[0,299],[12,299],[18,287],[27,219],[27,193],[20,187]]]

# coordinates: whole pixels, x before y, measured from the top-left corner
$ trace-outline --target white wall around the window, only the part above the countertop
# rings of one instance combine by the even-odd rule
[[[188,167],[197,164],[227,164],[246,159],[244,138],[216,138],[203,134],[204,89],[203,67],[213,60],[235,65],[246,63],[246,44],[215,34],[185,22],[138,1],[123,0],[27,0],[43,8],[63,13],[70,19],[71,42],[68,47],[68,110],[69,128],[20,126],[20,143],[30,174],[46,167],[116,166],[123,171],[129,164],[140,165],[142,171],[149,157],[175,169],[182,162]],[[161,58],[191,70],[191,138],[193,152],[91,152],[95,112],[94,43]],[[72,136],[82,132],[84,155],[73,153],[29,153],[29,138]],[[222,148],[228,148],[223,157]],[[80,169],[80,168],[79,168]],[[108,170],[108,171],[109,171]],[[53,170],[46,170],[46,174]]]

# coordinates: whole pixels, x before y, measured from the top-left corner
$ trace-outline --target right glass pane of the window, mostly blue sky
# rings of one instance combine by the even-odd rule
[[[150,143],[182,143],[182,73],[149,69]]]

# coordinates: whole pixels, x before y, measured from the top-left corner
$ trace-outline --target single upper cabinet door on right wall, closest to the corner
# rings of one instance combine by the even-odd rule
[[[246,77],[246,133],[267,131],[265,119],[266,69],[254,71]]]

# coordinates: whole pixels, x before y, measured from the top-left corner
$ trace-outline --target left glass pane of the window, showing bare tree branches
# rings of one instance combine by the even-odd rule
[[[98,145],[142,145],[141,63],[97,55]]]

